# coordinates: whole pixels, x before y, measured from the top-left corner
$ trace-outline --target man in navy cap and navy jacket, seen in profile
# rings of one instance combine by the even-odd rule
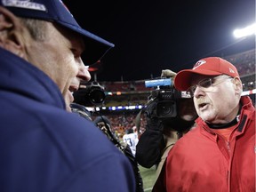
[[[127,158],[65,105],[113,46],[59,0],[0,0],[0,191],[135,191]]]

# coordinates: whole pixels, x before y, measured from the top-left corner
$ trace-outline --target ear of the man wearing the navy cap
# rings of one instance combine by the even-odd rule
[[[0,6],[0,46],[22,57],[21,32],[20,19]]]

